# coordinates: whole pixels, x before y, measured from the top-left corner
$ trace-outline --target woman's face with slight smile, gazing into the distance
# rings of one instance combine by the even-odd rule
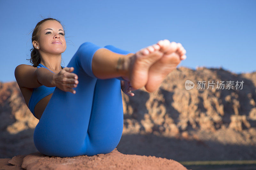
[[[41,51],[51,54],[63,53],[67,45],[61,24],[55,20],[48,20],[41,24],[38,43]]]

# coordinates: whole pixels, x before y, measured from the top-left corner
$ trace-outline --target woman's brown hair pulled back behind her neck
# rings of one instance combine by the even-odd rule
[[[36,24],[34,31],[32,30],[33,31],[32,38],[31,38],[32,43],[33,43],[33,41],[39,41],[40,26],[41,26],[41,24],[43,24],[45,21],[48,21],[48,20],[55,20],[60,23],[59,20],[54,19],[54,18],[46,18],[46,19],[39,21]],[[32,44],[32,46],[33,46],[33,44]],[[34,46],[30,49],[30,51],[31,51],[31,54],[30,54],[31,58],[26,59],[26,60],[30,60],[30,63],[33,64],[33,67],[37,67],[39,65],[39,63],[41,62],[40,53],[39,53],[38,49],[36,49]]]

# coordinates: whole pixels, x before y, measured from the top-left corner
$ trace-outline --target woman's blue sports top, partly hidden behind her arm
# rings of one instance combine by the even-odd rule
[[[46,69],[48,69],[47,67],[45,67],[43,64],[39,63],[39,65],[37,66],[37,68],[40,67],[44,67]],[[63,67],[61,66],[61,68],[63,69]],[[48,69],[49,70],[49,69]],[[50,70],[51,71],[51,70]],[[53,72],[53,71],[52,71]],[[54,73],[54,72],[53,72]],[[56,87],[47,87],[45,85],[41,85],[37,88],[33,89],[32,95],[29,99],[29,110],[31,111],[31,113],[35,116],[35,106],[36,104],[43,99],[45,96],[48,96],[49,94],[53,93],[53,91],[55,90]],[[36,116],[35,116],[36,117]]]

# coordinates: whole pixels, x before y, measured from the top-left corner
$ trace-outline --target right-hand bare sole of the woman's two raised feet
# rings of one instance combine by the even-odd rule
[[[148,92],[156,91],[164,78],[172,70],[176,69],[181,60],[186,59],[186,50],[180,43],[161,40],[157,44],[161,47],[160,51],[164,54],[149,68],[148,82],[145,85]]]

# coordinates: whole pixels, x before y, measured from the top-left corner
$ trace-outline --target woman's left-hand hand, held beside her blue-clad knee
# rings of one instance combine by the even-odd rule
[[[77,87],[78,76],[71,73],[72,71],[74,71],[74,67],[64,67],[58,74],[53,75],[52,81],[60,90],[75,94],[76,91],[72,88]]]

